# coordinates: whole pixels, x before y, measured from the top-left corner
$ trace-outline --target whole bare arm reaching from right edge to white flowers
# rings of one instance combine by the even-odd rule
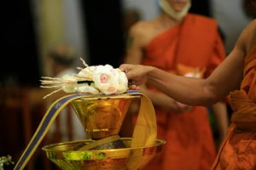
[[[138,85],[148,82],[154,88],[187,105],[212,105],[230,90],[239,88],[244,59],[250,48],[256,45],[255,37],[256,20],[253,20],[241,32],[235,48],[224,62],[218,65],[211,76],[207,79],[196,79],[191,77],[179,77],[170,75],[153,66],[144,65],[120,65],[125,71],[128,79],[132,80],[131,88],[137,89]]]

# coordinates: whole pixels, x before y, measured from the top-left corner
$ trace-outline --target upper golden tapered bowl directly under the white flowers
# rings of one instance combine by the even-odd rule
[[[139,95],[113,95],[81,98],[72,102],[79,120],[91,139],[119,133],[131,100]]]

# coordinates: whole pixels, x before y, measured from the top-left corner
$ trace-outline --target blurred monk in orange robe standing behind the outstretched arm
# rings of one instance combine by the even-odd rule
[[[190,1],[183,7],[176,1],[164,3],[183,13],[189,9]],[[177,19],[167,14],[164,4],[162,8],[164,14],[159,18],[140,21],[131,28],[133,42],[127,48],[125,63],[153,65],[186,77],[208,77],[225,58],[217,22],[185,13]],[[207,108],[177,103],[150,86],[140,90],[154,103],[157,138],[166,140],[160,156],[145,169],[210,169],[216,153]],[[218,105],[224,105],[225,109],[225,104]],[[226,116],[225,110],[220,111],[223,112]]]

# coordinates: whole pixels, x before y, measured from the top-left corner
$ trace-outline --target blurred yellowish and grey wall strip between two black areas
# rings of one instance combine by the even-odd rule
[[[56,43],[71,44],[79,57],[89,61],[86,26],[80,0],[49,1],[31,0],[42,72],[46,75],[44,57]],[[49,8],[50,7],[50,8]],[[63,7],[63,8],[62,8]],[[49,13],[49,14],[46,14]],[[80,60],[78,61],[80,64]]]

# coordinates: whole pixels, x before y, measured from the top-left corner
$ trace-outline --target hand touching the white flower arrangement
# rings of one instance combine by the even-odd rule
[[[130,65],[123,64],[119,66],[121,71],[124,71],[129,80],[129,88],[138,90],[140,85],[148,81],[147,73],[152,69],[146,65]]]

